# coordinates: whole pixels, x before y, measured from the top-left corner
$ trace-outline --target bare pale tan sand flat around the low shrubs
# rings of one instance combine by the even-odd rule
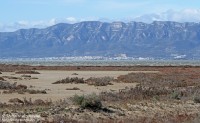
[[[130,72],[144,72],[144,73],[155,73],[158,71],[61,71],[61,70],[39,70],[40,74],[32,74],[31,77],[38,79],[7,79],[7,81],[17,84],[27,85],[28,87],[33,86],[35,90],[46,90],[47,94],[0,94],[0,102],[7,102],[11,98],[23,99],[51,99],[52,101],[57,101],[59,99],[69,98],[75,94],[90,94],[90,93],[100,93],[103,91],[119,91],[125,87],[134,87],[136,83],[116,83],[108,86],[91,86],[87,84],[52,84],[57,80],[64,79],[66,77],[79,77],[87,79],[89,77],[118,77],[119,75],[125,75]],[[76,73],[78,75],[72,75]],[[15,74],[15,72],[3,72],[0,76],[12,76],[21,77],[23,74]],[[77,87],[80,90],[66,90],[66,88]],[[2,90],[3,91],[3,90]],[[2,92],[1,91],[1,92]]]

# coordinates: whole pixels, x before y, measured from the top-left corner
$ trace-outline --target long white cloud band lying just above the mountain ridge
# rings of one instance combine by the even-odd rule
[[[0,23],[0,32],[11,32],[16,31],[18,29],[28,29],[28,28],[45,28],[48,26],[55,25],[57,23],[77,23],[81,21],[103,21],[103,22],[111,22],[116,20],[110,20],[105,18],[96,18],[96,17],[88,17],[88,18],[74,18],[67,17],[63,19],[53,18],[51,20],[41,20],[41,21],[18,21],[10,24]],[[117,20],[119,21],[119,20]],[[135,18],[121,19],[121,21],[140,21],[145,23],[151,23],[153,21],[176,21],[176,22],[200,22],[200,9],[184,9],[181,11],[168,10],[162,13],[153,13],[146,14]]]

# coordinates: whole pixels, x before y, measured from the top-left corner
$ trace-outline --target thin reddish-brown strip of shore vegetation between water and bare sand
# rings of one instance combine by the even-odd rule
[[[63,71],[162,71],[168,69],[200,69],[200,66],[31,66],[0,64],[0,71],[13,72],[16,70],[63,70]]]

